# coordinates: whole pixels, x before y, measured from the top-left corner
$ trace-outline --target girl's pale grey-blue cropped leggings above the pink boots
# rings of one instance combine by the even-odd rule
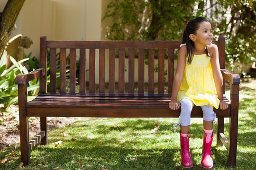
[[[179,116],[180,125],[188,126],[190,125],[190,115],[193,109],[194,103],[189,99],[182,99],[181,100],[181,114]],[[205,105],[201,106],[203,111],[203,120],[211,121],[214,120],[216,122],[216,114],[213,111],[212,105]]]

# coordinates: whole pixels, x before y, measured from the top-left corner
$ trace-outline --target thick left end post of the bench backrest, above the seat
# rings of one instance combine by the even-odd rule
[[[40,68],[45,69],[45,76],[39,79],[39,92],[47,92],[47,57],[46,57],[46,36],[40,36]]]

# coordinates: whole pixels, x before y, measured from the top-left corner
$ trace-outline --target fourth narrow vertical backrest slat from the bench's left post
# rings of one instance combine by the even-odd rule
[[[85,49],[80,49],[80,66],[79,66],[79,93],[85,93]]]

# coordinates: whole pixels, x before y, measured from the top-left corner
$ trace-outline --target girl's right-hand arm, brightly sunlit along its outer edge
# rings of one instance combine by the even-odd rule
[[[211,68],[212,68],[212,73],[213,73],[213,79],[214,79],[214,83],[215,83],[215,87],[217,90],[217,94],[218,94],[218,98],[219,98],[219,109],[220,110],[225,110],[227,109],[228,103],[224,102],[224,98],[223,98],[223,77],[222,74],[220,72],[220,66],[219,66],[219,51],[218,51],[218,47],[215,44],[211,44],[208,46],[209,51],[210,51],[210,55],[211,55]]]

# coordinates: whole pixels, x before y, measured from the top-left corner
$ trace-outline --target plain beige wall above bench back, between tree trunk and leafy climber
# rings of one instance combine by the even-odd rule
[[[39,56],[39,37],[49,40],[101,40],[101,0],[26,0],[12,34],[34,42],[25,52]]]

